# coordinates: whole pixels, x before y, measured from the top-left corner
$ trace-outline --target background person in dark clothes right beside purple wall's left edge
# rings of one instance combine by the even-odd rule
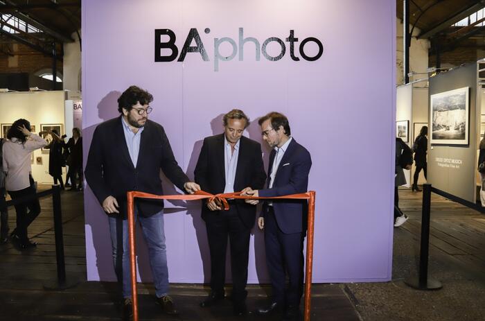
[[[73,137],[67,141],[66,148],[69,149],[69,156],[67,157],[67,172],[66,181],[71,179],[71,189],[69,191],[80,191],[82,189],[82,137],[79,128],[73,128]],[[76,176],[79,175],[79,182],[76,188]]]

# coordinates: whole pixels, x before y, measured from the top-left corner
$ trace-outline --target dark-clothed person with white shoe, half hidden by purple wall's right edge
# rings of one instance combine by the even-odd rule
[[[409,170],[412,166],[412,150],[407,144],[396,137],[396,170],[394,179],[394,227],[403,225],[407,220],[407,215],[399,208],[399,193],[398,187],[405,185],[406,177],[403,168]]]

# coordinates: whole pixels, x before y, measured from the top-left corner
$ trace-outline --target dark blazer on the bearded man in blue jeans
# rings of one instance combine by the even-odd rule
[[[118,201],[120,214],[127,216],[127,191],[143,191],[163,195],[160,169],[168,179],[184,191],[188,182],[173,156],[164,128],[147,120],[141,132],[136,168],[133,165],[123,132],[121,116],[100,123],[94,130],[85,177],[101,205],[108,196]],[[164,208],[163,200],[136,200],[139,215],[152,216]]]

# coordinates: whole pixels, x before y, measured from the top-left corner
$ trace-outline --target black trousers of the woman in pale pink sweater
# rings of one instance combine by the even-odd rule
[[[12,200],[17,198],[23,198],[29,195],[35,195],[35,187],[33,180],[30,180],[30,186],[20,191],[8,191]],[[40,214],[39,199],[35,198],[27,202],[15,205],[15,211],[17,212],[17,229],[15,234],[19,236],[21,242],[28,241],[27,227],[35,218]]]

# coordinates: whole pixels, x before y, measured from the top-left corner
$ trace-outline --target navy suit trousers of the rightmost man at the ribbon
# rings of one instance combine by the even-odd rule
[[[299,306],[303,295],[303,233],[285,234],[276,223],[274,210],[265,215],[266,264],[272,285],[272,301]],[[286,275],[289,284],[285,289]]]

